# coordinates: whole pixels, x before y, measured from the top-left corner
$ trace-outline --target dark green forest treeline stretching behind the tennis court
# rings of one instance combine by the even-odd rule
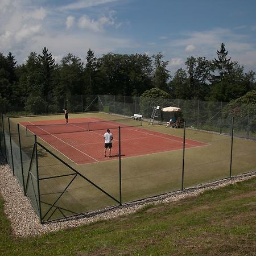
[[[89,49],[86,63],[68,53],[56,64],[52,53],[31,52],[25,63],[17,65],[15,56],[0,53],[0,104],[60,96],[111,94],[141,96],[159,88],[170,98],[229,102],[256,89],[255,72],[228,56],[221,43],[214,60],[187,57],[185,68],[171,77],[161,52],[121,55],[108,53],[96,58]]]

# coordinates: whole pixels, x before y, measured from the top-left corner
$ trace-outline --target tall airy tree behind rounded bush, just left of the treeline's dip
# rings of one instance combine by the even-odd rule
[[[159,52],[157,55],[152,56],[154,59],[154,86],[162,89],[167,90],[167,82],[170,79],[170,74],[166,67],[169,61],[163,61],[163,55]]]

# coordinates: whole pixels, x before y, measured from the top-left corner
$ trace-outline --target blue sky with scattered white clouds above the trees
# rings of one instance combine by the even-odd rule
[[[113,53],[162,52],[172,75],[189,56],[229,57],[256,72],[255,0],[0,0],[0,52],[18,64],[47,47],[85,62]]]

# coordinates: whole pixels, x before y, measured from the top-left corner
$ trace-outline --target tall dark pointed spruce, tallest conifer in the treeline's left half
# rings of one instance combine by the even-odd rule
[[[48,53],[46,47],[43,48],[42,55],[38,55],[40,64],[42,67],[42,73],[44,80],[42,83],[43,96],[47,97],[52,92],[52,72],[55,67],[55,59],[52,57],[52,53]]]

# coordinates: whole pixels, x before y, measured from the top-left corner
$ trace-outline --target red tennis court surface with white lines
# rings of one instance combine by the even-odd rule
[[[106,128],[94,131],[75,131],[79,123],[104,121],[100,118],[74,118],[65,125],[65,133],[58,133],[57,126],[31,126],[32,133],[47,142],[61,154],[76,164],[87,164],[118,158],[118,129],[110,129],[113,134],[112,158],[104,157],[104,133]],[[65,124],[65,120],[22,122],[20,125]],[[111,121],[109,122],[111,123]],[[104,124],[105,125],[105,124]],[[118,128],[118,123],[114,123]],[[120,124],[121,125],[121,124]],[[113,126],[113,123],[111,123]],[[105,126],[106,127],[106,126]],[[168,129],[168,128],[167,128]],[[208,145],[203,142],[185,140],[185,148]],[[163,134],[142,127],[124,127],[121,129],[121,157],[148,155],[165,151],[181,150],[183,138]],[[107,150],[108,153],[108,150]],[[108,155],[108,154],[107,154]]]

